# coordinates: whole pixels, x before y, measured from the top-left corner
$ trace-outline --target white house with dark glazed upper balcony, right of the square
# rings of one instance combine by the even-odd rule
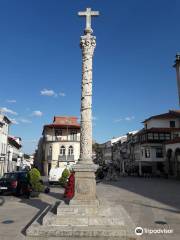
[[[132,141],[132,158],[139,166],[139,175],[147,172],[172,175],[175,170],[170,171],[167,166],[167,150],[172,148],[168,143],[177,145],[180,137],[180,111],[151,116],[143,123],[144,128]]]

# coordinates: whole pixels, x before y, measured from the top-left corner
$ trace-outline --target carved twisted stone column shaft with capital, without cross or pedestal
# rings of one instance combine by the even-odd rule
[[[96,46],[90,33],[81,37],[82,92],[80,161],[92,163],[92,57]]]

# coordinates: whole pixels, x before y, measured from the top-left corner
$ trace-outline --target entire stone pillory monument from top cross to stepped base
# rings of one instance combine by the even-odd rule
[[[79,12],[86,17],[81,36],[81,140],[80,159],[74,166],[75,194],[69,204],[63,201],[46,209],[26,230],[26,239],[121,240],[136,239],[135,226],[121,205],[98,199],[92,161],[92,71],[96,37],[92,35],[91,17],[98,11]]]

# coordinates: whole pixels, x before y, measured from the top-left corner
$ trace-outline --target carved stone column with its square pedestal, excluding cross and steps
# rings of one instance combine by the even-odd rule
[[[74,202],[96,201],[96,165],[92,161],[92,58],[96,46],[96,38],[92,30],[86,29],[81,37],[82,49],[82,84],[81,84],[81,139],[80,160],[74,166],[75,196]],[[89,204],[89,203],[88,203]]]

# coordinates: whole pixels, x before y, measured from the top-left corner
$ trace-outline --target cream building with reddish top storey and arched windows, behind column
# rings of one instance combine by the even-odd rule
[[[43,138],[39,143],[36,156],[40,156],[44,175],[51,168],[71,168],[80,156],[80,124],[77,117],[55,116],[52,124],[43,128]],[[38,152],[40,154],[38,154]]]

